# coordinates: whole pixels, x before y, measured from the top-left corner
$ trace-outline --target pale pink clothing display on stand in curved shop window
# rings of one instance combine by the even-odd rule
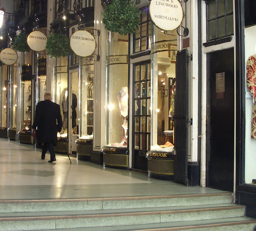
[[[126,141],[126,132],[128,130],[128,87],[122,87],[117,95],[119,102],[120,116],[122,116],[122,138],[121,142]]]

